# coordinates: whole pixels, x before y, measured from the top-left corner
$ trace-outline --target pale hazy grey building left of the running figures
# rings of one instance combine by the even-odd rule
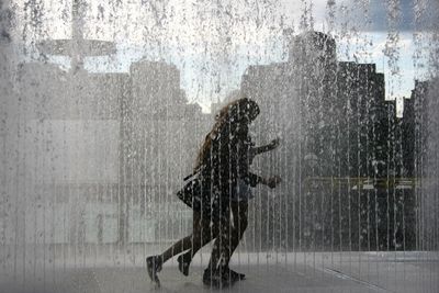
[[[191,213],[175,193],[211,117],[188,104],[176,66],[139,60],[127,74],[94,74],[81,63],[68,71],[23,63],[14,81],[16,104],[8,106],[19,128],[9,131],[22,135],[7,149],[23,151],[8,159],[25,171],[14,191],[23,217],[8,235],[15,226],[21,243],[79,245],[188,233]]]

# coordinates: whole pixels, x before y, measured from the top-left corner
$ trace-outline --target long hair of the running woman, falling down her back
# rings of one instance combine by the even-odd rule
[[[237,126],[240,123],[248,124],[254,121],[259,113],[259,105],[248,98],[240,98],[223,106],[215,116],[215,124],[213,125],[212,131],[206,135],[204,143],[200,148],[193,171],[199,171],[203,166],[211,149],[212,140],[216,138],[224,125],[227,123],[234,126]]]

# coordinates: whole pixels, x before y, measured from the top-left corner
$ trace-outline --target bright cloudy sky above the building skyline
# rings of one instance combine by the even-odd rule
[[[71,37],[71,0],[14,1],[24,43]],[[175,64],[190,102],[211,102],[239,88],[249,65],[286,60],[286,29],[314,29],[337,41],[339,60],[375,63],[386,99],[409,97],[428,77],[437,0],[160,0],[88,1],[87,38],[114,41],[117,53],[87,58],[90,71],[125,72],[138,59]],[[40,13],[40,14],[38,14]],[[40,15],[40,16],[38,16]],[[26,25],[33,23],[34,25]],[[36,29],[35,29],[36,27]],[[415,56],[415,57],[414,57]],[[50,61],[68,67],[66,57]],[[67,68],[66,68],[67,69]]]

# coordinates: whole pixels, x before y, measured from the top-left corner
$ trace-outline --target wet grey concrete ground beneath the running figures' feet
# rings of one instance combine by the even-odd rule
[[[0,274],[0,292],[215,292],[201,281],[207,261],[207,253],[199,256],[189,277],[169,261],[159,289],[139,259],[15,267]],[[230,267],[247,279],[227,292],[439,292],[438,252],[237,253]]]

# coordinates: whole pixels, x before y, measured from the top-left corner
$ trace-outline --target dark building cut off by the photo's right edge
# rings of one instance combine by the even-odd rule
[[[436,209],[439,202],[435,199],[438,179],[435,166],[438,166],[438,115],[437,92],[439,79],[415,80],[415,88],[409,99],[404,99],[404,117],[399,121],[402,144],[402,176],[415,178],[416,201],[416,247],[418,249],[438,249],[431,235],[437,235],[439,223]],[[409,181],[408,181],[409,182]],[[407,183],[408,183],[407,182]]]

